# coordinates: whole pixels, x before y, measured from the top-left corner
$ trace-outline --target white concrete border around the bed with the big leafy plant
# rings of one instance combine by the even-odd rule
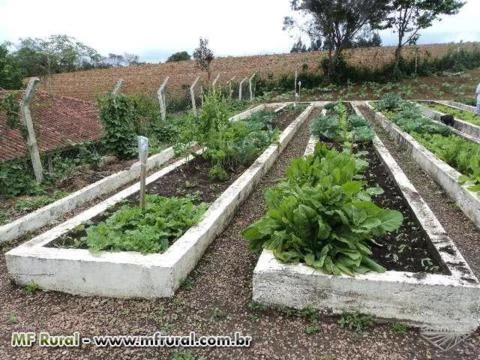
[[[424,329],[474,331],[480,321],[477,278],[377,136],[374,146],[450,275],[398,271],[355,277],[326,275],[304,264],[283,264],[264,250],[254,270],[253,300],[296,309],[314,307],[334,314],[359,311]],[[312,149],[307,147],[306,154]]]

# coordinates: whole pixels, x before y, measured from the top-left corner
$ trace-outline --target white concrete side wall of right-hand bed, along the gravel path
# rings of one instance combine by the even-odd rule
[[[468,186],[460,184],[459,179],[462,174],[438,159],[431,151],[388,120],[383,114],[375,111],[370,103],[365,102],[364,104],[375,114],[375,121],[390,133],[397,143],[407,147],[413,160],[455,200],[465,215],[480,228],[480,198],[474,192],[468,190]]]

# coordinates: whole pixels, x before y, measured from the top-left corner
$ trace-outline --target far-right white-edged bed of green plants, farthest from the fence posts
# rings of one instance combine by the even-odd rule
[[[441,121],[444,115],[452,115],[453,126],[457,135],[464,136],[467,139],[480,143],[480,116],[470,111],[455,109],[436,101],[425,101],[420,103],[422,112],[436,121]],[[450,125],[450,124],[449,124]]]

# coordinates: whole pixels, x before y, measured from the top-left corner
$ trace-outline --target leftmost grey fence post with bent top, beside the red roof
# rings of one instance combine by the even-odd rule
[[[23,122],[27,128],[27,146],[32,160],[33,172],[35,179],[40,184],[43,181],[43,167],[40,160],[40,152],[38,150],[37,138],[35,137],[35,129],[33,128],[32,114],[30,113],[30,101],[35,94],[35,89],[40,80],[38,78],[31,78],[28,82],[27,90],[20,104],[20,111]]]

